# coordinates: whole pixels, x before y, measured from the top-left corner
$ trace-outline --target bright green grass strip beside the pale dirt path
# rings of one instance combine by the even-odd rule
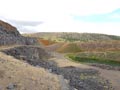
[[[114,60],[94,58],[94,57],[79,57],[73,54],[69,54],[67,56],[71,60],[81,62],[81,63],[98,63],[98,64],[106,64],[106,65],[112,65],[112,66],[120,66],[120,62],[114,61]]]

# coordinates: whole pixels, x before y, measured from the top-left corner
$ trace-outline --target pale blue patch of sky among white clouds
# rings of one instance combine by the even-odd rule
[[[105,14],[92,14],[86,16],[72,15],[74,20],[84,22],[120,22],[120,8]]]

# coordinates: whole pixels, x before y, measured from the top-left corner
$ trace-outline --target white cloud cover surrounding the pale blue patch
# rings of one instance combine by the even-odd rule
[[[36,27],[24,27],[30,32],[76,31],[118,35],[120,23],[77,22],[70,16],[109,13],[118,8],[119,0],[0,0],[0,16],[44,22]]]

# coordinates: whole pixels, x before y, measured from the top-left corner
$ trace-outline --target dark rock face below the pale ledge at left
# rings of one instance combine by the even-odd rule
[[[41,60],[46,60],[51,57],[51,54],[45,49],[34,46],[19,46],[9,50],[3,50],[2,52],[14,56],[17,59],[34,63],[41,62]]]

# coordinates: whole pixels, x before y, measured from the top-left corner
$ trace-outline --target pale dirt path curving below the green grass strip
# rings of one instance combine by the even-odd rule
[[[109,80],[115,90],[120,90],[120,71],[105,70],[98,67],[93,67],[93,66],[72,62],[64,58],[64,56],[59,53],[54,53],[53,55],[55,56],[55,58],[51,60],[54,60],[60,67],[74,66],[74,67],[79,67],[83,69],[91,68],[91,69],[98,70],[100,72],[100,76]]]

